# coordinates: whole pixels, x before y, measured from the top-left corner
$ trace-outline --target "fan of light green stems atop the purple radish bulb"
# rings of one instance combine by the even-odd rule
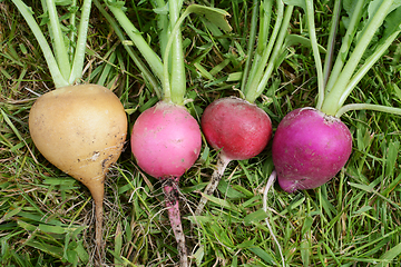
[[[324,80],[329,76],[330,78],[327,80],[327,83],[322,85],[319,82],[319,100],[316,103],[316,109],[320,109],[326,115],[341,117],[345,112],[350,110],[359,110],[359,109],[371,109],[376,111],[384,111],[390,113],[400,113],[400,109],[392,108],[392,107],[384,107],[384,106],[376,106],[375,105],[368,105],[368,103],[354,103],[354,105],[346,105],[343,107],[346,98],[350,96],[351,91],[356,87],[356,85],[361,81],[361,79],[364,77],[364,75],[372,68],[372,66],[382,57],[382,55],[388,50],[388,48],[391,46],[391,43],[394,41],[394,39],[399,36],[401,32],[400,28],[394,28],[391,34],[387,36],[384,40],[380,43],[380,46],[373,51],[371,56],[369,56],[368,59],[364,60],[364,63],[359,67],[359,70],[355,72],[355,69],[360,65],[360,61],[371,42],[372,38],[376,33],[380,26],[383,24],[384,19],[387,18],[389,10],[392,7],[393,1],[392,0],[384,0],[381,2],[381,4],[378,7],[375,13],[370,19],[366,27],[363,29],[361,37],[359,38],[354,50],[350,55],[350,58],[346,59],[349,50],[352,46],[352,39],[354,38],[356,33],[356,28],[359,26],[359,22],[363,16],[364,11],[364,4],[365,1],[359,0],[353,8],[353,13],[351,14],[349,27],[345,33],[345,37],[342,41],[342,46],[340,48],[340,51],[338,53],[335,63],[333,69],[330,71],[329,66],[325,66],[324,69]],[[335,11],[332,19],[332,30],[331,36],[335,34],[334,26],[338,23],[338,13],[340,10],[339,1],[335,3]],[[309,19],[309,30],[311,34],[311,44],[312,48],[317,47],[317,41],[313,37],[315,36],[315,29],[314,29],[314,17],[313,17],[313,6],[312,1],[306,1],[306,13]],[[331,39],[330,39],[331,40]],[[327,51],[330,53],[332,44],[329,43]],[[317,49],[313,50],[316,68],[317,68],[317,79],[320,77],[320,69],[321,69],[321,60],[319,58]],[[329,56],[327,56],[329,57]],[[326,59],[327,59],[326,57]],[[329,57],[330,58],[330,57]],[[346,60],[346,63],[345,63]],[[345,66],[344,66],[345,63]],[[321,100],[323,99],[323,102]]]

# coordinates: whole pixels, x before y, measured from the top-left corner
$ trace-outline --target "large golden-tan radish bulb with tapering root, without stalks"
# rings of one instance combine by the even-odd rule
[[[90,190],[100,255],[104,182],[127,136],[127,117],[121,102],[101,86],[62,87],[42,95],[33,103],[29,130],[46,159]]]

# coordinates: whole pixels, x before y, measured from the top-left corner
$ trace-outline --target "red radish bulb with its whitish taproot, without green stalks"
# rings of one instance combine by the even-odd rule
[[[250,159],[262,152],[272,137],[272,121],[255,103],[228,97],[212,102],[202,116],[202,130],[208,144],[219,151],[216,170],[205,189],[212,195],[231,160]],[[199,215],[207,199],[195,211]]]

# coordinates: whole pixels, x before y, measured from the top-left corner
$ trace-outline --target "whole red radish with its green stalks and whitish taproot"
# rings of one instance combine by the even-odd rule
[[[273,1],[255,0],[253,7],[247,61],[241,85],[245,99],[233,97],[217,99],[205,109],[202,116],[202,130],[205,138],[219,154],[216,169],[204,190],[195,215],[202,214],[207,202],[207,195],[212,195],[217,188],[228,162],[255,157],[262,152],[272,137],[271,119],[254,102],[264,91],[273,70],[278,65],[280,56],[285,48],[284,41],[287,37],[293,6],[284,8],[284,3],[277,1],[277,19],[270,40],[268,29]],[[256,51],[253,52],[258,9],[263,11],[263,16],[260,19]],[[268,43],[267,47],[266,43]]]

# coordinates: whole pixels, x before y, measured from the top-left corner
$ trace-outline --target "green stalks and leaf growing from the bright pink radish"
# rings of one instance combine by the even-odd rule
[[[133,22],[127,18],[125,13],[124,2],[116,0],[107,0],[106,4],[113,12],[114,17],[121,26],[126,34],[130,38],[133,43],[137,47],[154,76],[157,77],[162,85],[162,93],[158,92],[155,87],[157,95],[165,101],[172,101],[177,105],[184,105],[186,93],[186,78],[184,70],[184,51],[182,47],[180,26],[187,16],[190,13],[197,13],[204,16],[207,20],[219,27],[225,31],[231,31],[232,28],[226,20],[229,14],[221,9],[204,7],[199,4],[188,6],[183,14],[179,16],[182,9],[180,0],[170,0],[168,4],[164,0],[157,0],[156,8],[154,11],[159,14],[159,28],[160,30],[160,57],[149,47],[145,41],[141,33],[136,29]],[[113,19],[105,13],[105,10],[99,4],[98,0],[95,3],[106,16],[107,20],[113,23]],[[167,19],[168,18],[168,19]],[[114,24],[117,31],[119,29]],[[124,41],[124,36],[119,38]],[[127,48],[128,49],[128,48]],[[133,55],[133,51],[129,51]],[[162,59],[160,59],[162,58]],[[134,59],[136,65],[141,69],[146,70],[143,62],[137,58]],[[147,72],[148,80],[156,80],[150,77],[151,73]]]

